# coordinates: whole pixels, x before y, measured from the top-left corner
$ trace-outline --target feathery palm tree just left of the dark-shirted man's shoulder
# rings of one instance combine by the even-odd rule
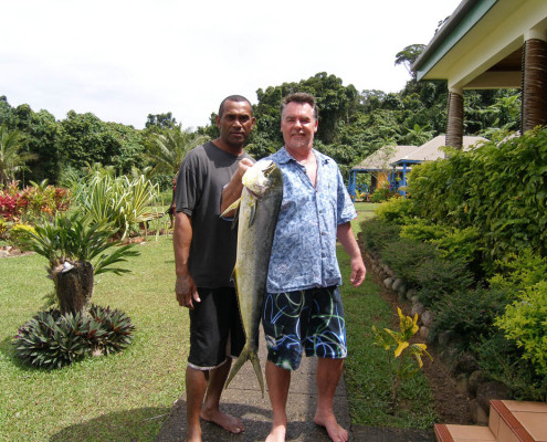
[[[186,155],[208,140],[208,136],[183,130],[178,125],[150,135],[147,157],[156,170],[176,175]]]

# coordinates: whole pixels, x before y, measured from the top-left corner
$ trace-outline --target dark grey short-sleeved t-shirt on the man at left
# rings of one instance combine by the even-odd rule
[[[235,157],[209,141],[182,160],[177,179],[177,212],[192,220],[188,269],[198,287],[233,286],[238,229],[220,217],[222,189],[246,152]]]

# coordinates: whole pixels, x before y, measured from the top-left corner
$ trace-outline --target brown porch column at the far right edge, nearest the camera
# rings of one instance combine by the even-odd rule
[[[547,35],[529,31],[523,46],[522,131],[547,125]]]

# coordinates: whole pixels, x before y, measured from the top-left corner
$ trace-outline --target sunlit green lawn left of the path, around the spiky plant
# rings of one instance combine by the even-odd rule
[[[171,239],[138,245],[130,274],[99,275],[93,301],[137,327],[122,354],[51,372],[22,367],[11,338],[52,290],[38,255],[0,261],[0,441],[152,441],[183,391],[187,311],[175,301]]]

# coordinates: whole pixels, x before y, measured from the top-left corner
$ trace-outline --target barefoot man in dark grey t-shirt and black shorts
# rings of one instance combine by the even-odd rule
[[[243,144],[254,123],[246,98],[227,97],[217,117],[219,138],[192,149],[177,177],[175,292],[190,313],[187,441],[201,441],[200,418],[232,433],[244,430],[241,419],[219,409],[231,357],[245,340],[231,281],[238,231],[220,214],[241,194],[241,178],[253,162]]]

